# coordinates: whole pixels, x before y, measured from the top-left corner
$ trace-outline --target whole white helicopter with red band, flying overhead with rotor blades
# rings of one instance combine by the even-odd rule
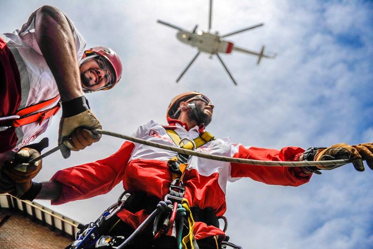
[[[219,53],[225,53],[225,54],[230,54],[232,51],[237,51],[237,52],[242,52],[242,53],[247,53],[250,55],[256,55],[258,56],[257,59],[257,65],[260,63],[261,59],[264,58],[269,58],[269,59],[274,59],[276,57],[276,54],[269,56],[264,54],[264,46],[261,47],[261,50],[259,53],[244,49],[241,47],[235,46],[231,41],[226,41],[224,38],[229,37],[231,35],[235,35],[241,32],[245,32],[254,28],[258,28],[263,26],[263,23],[256,24],[247,28],[239,29],[233,32],[229,32],[227,34],[219,35],[219,32],[212,33],[211,32],[211,16],[212,16],[212,0],[210,0],[210,5],[209,5],[209,29],[208,31],[201,31],[197,30],[198,24],[195,25],[193,30],[191,32],[187,31],[184,28],[180,28],[176,25],[170,24],[169,22],[164,22],[162,20],[157,20],[158,23],[166,25],[168,27],[174,28],[178,30],[178,33],[176,34],[176,38],[181,41],[182,43],[188,44],[192,47],[197,47],[198,52],[197,54],[192,58],[192,60],[189,62],[189,64],[186,66],[184,71],[179,75],[179,77],[176,79],[176,83],[178,83],[185,74],[185,72],[189,69],[189,67],[192,65],[192,63],[197,59],[197,57],[200,55],[201,52],[205,52],[210,54],[210,59],[212,58],[213,55],[216,55],[216,57],[219,59],[220,63],[222,64],[223,68],[233,81],[233,84],[237,85],[235,79],[233,78],[231,72],[229,72],[227,66],[223,62],[222,58],[220,57]]]

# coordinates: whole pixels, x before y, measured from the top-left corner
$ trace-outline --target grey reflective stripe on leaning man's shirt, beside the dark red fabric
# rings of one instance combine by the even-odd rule
[[[18,109],[22,109],[25,108],[28,99],[30,91],[30,79],[28,78],[26,64],[23,61],[22,56],[19,54],[17,48],[13,44],[13,41],[9,41],[6,45],[8,46],[10,52],[12,52],[13,57],[17,63],[19,78],[21,79],[21,104],[19,105]]]

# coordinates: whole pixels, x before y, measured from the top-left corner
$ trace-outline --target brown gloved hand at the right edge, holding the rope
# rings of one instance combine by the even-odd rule
[[[358,145],[348,145],[346,143],[339,143],[330,146],[329,148],[318,149],[314,156],[314,161],[338,160],[347,159],[352,160],[357,171],[364,171],[363,159],[366,160],[367,165],[373,170],[373,143],[363,143]],[[319,169],[334,169],[342,165],[331,166],[317,166]]]

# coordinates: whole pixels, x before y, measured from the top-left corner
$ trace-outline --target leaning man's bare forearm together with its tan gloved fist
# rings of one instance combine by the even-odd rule
[[[83,94],[75,40],[66,16],[56,7],[41,7],[36,12],[35,35],[61,96],[58,142],[66,146],[60,150],[63,157],[68,158],[70,150],[81,150],[100,140],[101,135],[90,130],[102,127]],[[78,127],[84,130],[77,130]]]

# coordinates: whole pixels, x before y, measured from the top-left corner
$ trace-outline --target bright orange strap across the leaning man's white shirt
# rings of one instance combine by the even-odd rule
[[[45,119],[56,115],[56,113],[61,109],[61,105],[60,103],[57,103],[57,105],[53,106],[52,108],[40,112],[37,111],[51,105],[52,103],[56,102],[59,98],[60,94],[58,94],[53,99],[49,99],[40,102],[36,105],[28,106],[26,108],[19,110],[15,115],[20,116],[20,118],[13,119],[12,126],[19,127],[22,125],[31,124],[33,122],[39,122],[39,124],[41,124],[41,122],[43,122]]]

